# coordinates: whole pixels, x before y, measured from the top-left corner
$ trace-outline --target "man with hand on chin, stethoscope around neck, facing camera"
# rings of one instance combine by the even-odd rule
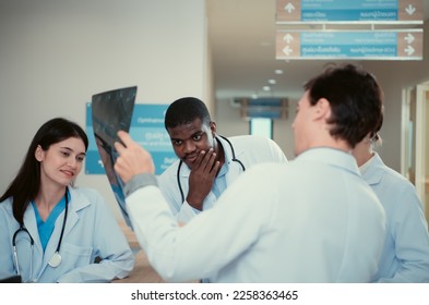
[[[252,166],[287,162],[282,149],[270,138],[217,135],[206,106],[194,97],[180,98],[168,107],[165,127],[178,160],[160,174],[158,182],[181,223],[212,208],[239,174]],[[215,162],[219,163],[217,171]]]

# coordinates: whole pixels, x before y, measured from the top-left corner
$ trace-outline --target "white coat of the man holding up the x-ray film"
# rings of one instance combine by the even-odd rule
[[[128,191],[138,240],[167,281],[369,282],[378,268],[384,210],[341,150],[254,166],[184,227],[157,186]]]

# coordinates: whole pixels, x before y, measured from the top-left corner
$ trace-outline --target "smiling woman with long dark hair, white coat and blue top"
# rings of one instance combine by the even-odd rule
[[[0,197],[0,279],[108,282],[132,270],[134,256],[109,207],[72,187],[88,139],[62,118],[46,122]]]

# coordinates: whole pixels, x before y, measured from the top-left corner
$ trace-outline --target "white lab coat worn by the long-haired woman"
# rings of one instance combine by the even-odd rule
[[[124,278],[134,266],[134,256],[111,210],[102,196],[90,188],[69,187],[71,200],[61,243],[60,266],[48,265],[56,252],[63,223],[63,212],[56,220],[52,235],[44,253],[32,205],[24,215],[24,225],[34,239],[33,251],[28,235],[16,236],[17,257],[23,281],[36,282],[108,282]],[[16,274],[13,263],[12,236],[20,228],[13,218],[11,199],[0,204],[0,278]],[[31,258],[33,257],[33,266]],[[96,257],[102,258],[98,264]],[[31,269],[33,271],[31,273]]]

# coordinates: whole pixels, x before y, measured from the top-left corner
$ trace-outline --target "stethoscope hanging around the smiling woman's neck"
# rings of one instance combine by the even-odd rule
[[[64,235],[67,215],[68,215],[68,210],[69,210],[69,190],[67,187],[65,187],[64,198],[65,198],[65,208],[64,208],[64,218],[62,221],[60,239],[58,241],[56,252],[53,253],[53,255],[51,256],[51,258],[48,261],[48,265],[52,268],[57,268],[58,266],[60,266],[61,260],[62,260],[61,255],[60,255],[60,248],[61,248],[62,236]],[[16,236],[20,232],[26,233],[29,237],[29,246],[31,246],[29,277],[32,278],[33,277],[34,240],[33,240],[32,235],[29,234],[28,230],[25,228],[24,223],[20,224],[20,228],[15,231],[15,233],[13,234],[13,237],[12,237],[13,261],[15,264],[16,274],[21,276],[20,264],[19,264],[20,261],[17,259],[17,249],[16,249]]]

